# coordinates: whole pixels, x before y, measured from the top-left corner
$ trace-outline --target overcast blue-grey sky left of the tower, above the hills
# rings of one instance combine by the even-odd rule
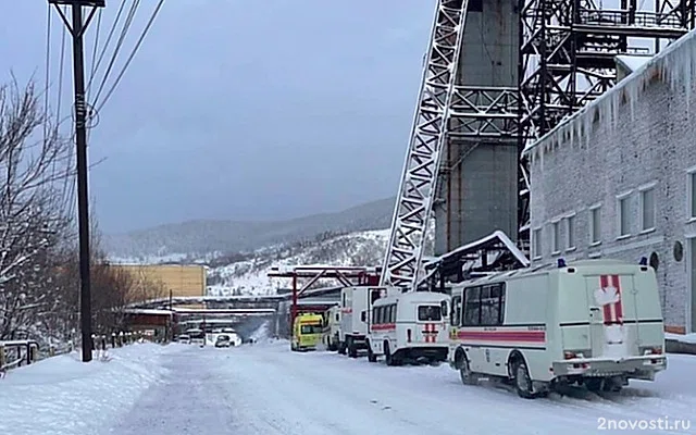
[[[12,70],[44,83],[46,0],[1,1],[0,77]],[[156,3],[140,1],[100,100]],[[120,4],[107,0],[100,46]],[[433,5],[166,1],[90,134],[90,161],[105,159],[90,172],[101,228],[287,219],[396,195]],[[62,27],[54,11],[52,27],[55,109]],[[72,104],[66,49],[63,116]]]

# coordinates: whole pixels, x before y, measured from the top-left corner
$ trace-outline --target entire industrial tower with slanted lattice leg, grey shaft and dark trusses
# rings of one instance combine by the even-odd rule
[[[696,0],[600,1],[437,1],[382,285],[419,284],[431,213],[436,254],[494,231],[529,252],[524,147],[611,88],[617,55],[695,25]]]

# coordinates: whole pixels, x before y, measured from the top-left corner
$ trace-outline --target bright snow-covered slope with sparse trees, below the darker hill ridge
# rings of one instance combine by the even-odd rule
[[[209,294],[269,295],[277,288],[288,288],[289,279],[266,276],[273,266],[382,265],[388,237],[388,229],[368,231],[260,249],[248,260],[211,268]]]

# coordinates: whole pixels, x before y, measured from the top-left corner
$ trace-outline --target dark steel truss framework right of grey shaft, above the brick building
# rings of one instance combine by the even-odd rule
[[[651,54],[629,38],[673,40],[694,28],[694,0],[520,0],[520,148],[616,84],[616,55]],[[641,8],[645,5],[642,1]],[[521,161],[527,179],[526,161]],[[526,186],[524,185],[526,184]],[[520,188],[520,228],[529,240],[529,183]]]

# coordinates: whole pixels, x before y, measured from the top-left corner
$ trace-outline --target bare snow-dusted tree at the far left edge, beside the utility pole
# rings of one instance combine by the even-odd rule
[[[0,339],[36,335],[64,296],[54,253],[71,231],[69,151],[33,83],[0,85]]]

